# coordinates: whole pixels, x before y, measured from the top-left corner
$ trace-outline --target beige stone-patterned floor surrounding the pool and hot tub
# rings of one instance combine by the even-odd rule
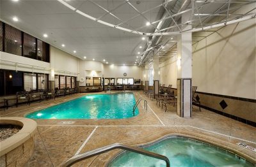
[[[100,92],[104,93],[104,92]],[[22,105],[1,111],[1,117],[24,117],[26,113],[63,103],[85,94]],[[75,154],[82,154],[112,143],[142,145],[168,135],[182,135],[203,142],[213,143],[232,150],[253,163],[256,154],[236,143],[246,143],[256,147],[256,128],[216,113],[193,106],[193,117],[181,118],[176,115],[177,105],[168,106],[164,112],[156,101],[151,101],[142,91],[135,91],[136,99],[145,98],[148,110],[139,105],[140,114],[131,119],[118,120],[72,120],[73,124],[61,124],[63,120],[36,120],[38,128],[35,136],[35,152],[26,166],[60,166]],[[89,137],[90,136],[90,137]],[[120,150],[91,157],[74,166],[104,166]]]

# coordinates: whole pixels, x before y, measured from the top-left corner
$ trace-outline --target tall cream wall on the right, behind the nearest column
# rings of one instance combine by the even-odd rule
[[[251,19],[227,25],[193,45],[192,82],[197,91],[256,99],[255,34],[256,19]],[[161,83],[177,88],[175,59],[162,63],[160,71]]]

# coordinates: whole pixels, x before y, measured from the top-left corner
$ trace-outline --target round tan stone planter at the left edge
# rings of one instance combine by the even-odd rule
[[[36,122],[24,117],[0,117],[0,124],[22,127],[10,138],[0,142],[0,166],[24,166],[34,152]]]

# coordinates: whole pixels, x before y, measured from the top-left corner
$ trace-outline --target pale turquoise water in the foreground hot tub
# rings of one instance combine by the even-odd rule
[[[168,157],[171,166],[254,166],[220,147],[182,137],[166,138],[144,148]],[[125,151],[109,166],[166,166],[165,161]]]

